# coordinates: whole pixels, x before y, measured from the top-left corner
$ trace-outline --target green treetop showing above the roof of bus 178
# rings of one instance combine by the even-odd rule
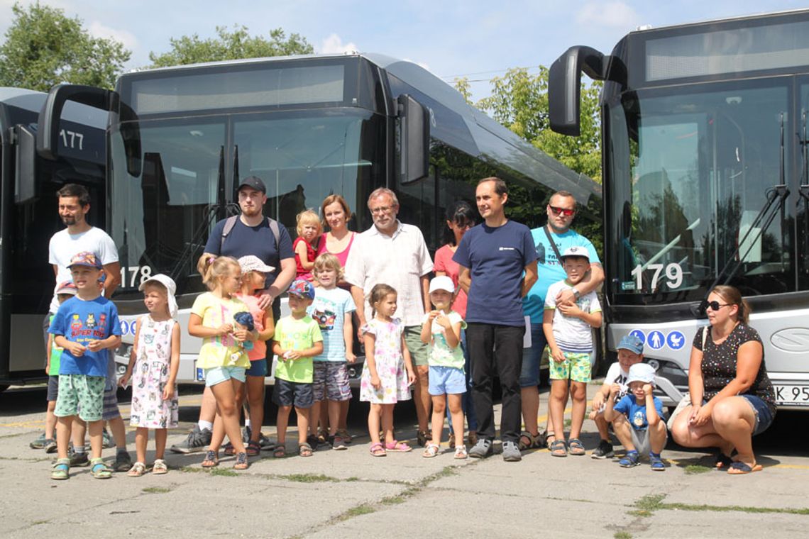
[[[200,39],[200,36],[172,38],[172,50],[163,53],[149,53],[149,60],[155,67],[168,65],[197,64],[205,61],[239,60],[240,58],[261,58],[286,56],[290,54],[311,54],[315,52],[305,37],[291,34],[289,38],[281,28],[269,32],[269,40],[263,36],[250,36],[248,28],[235,26],[233,32],[227,27],[216,27],[217,37]]]

